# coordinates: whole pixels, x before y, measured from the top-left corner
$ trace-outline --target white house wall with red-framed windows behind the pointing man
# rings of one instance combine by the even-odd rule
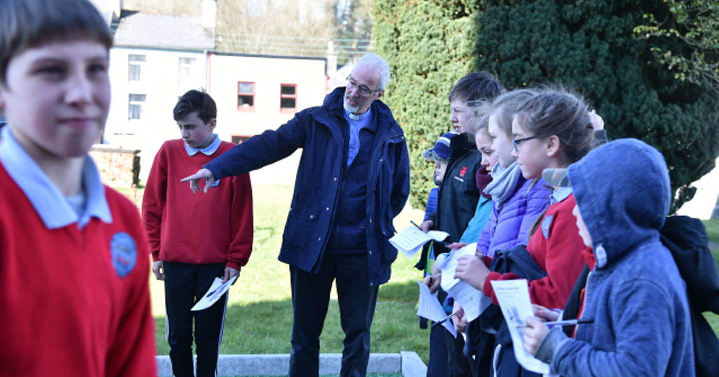
[[[215,131],[221,139],[277,129],[294,116],[280,111],[280,85],[295,84],[296,110],[319,106],[326,94],[324,60],[237,55],[209,56],[209,93],[217,103]],[[255,83],[254,109],[237,106],[237,84]],[[301,151],[251,173],[255,183],[292,184]]]

